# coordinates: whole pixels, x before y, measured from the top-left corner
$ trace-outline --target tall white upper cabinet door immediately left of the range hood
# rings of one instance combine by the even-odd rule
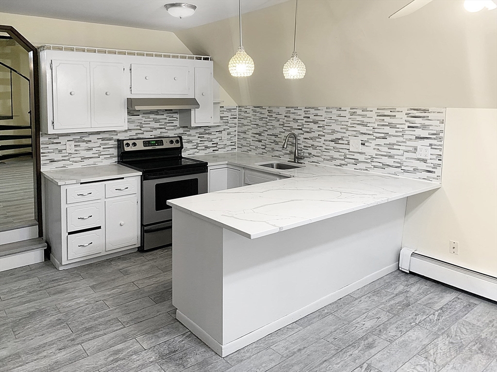
[[[125,126],[124,64],[90,62],[91,126]]]

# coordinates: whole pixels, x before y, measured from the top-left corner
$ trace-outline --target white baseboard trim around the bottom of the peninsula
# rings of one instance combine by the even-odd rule
[[[366,284],[374,282],[376,279],[381,278],[382,276],[387,275],[399,267],[399,263],[394,263],[393,265],[387,266],[379,271],[374,272],[371,275],[366,276],[354,283],[349,284],[339,290],[323,297],[322,299],[313,302],[299,310],[296,310],[288,315],[283,316],[269,324],[266,324],[263,327],[260,327],[245,336],[242,336],[234,341],[231,341],[225,345],[222,345],[218,341],[216,341],[213,337],[211,337],[207,332],[205,332],[202,328],[200,328],[197,324],[195,324],[192,320],[190,320],[186,315],[184,315],[180,310],[176,310],[176,319],[179,320],[186,328],[188,328],[195,336],[200,338],[207,346],[209,346],[212,350],[214,350],[221,357],[226,357],[237,350],[244,348],[247,345],[250,345],[252,342],[260,340],[262,337],[267,336],[268,334],[277,331],[284,326],[293,323],[294,321],[303,318],[310,313],[319,310],[332,302],[342,298],[349,293],[352,293],[356,289],[364,287]]]

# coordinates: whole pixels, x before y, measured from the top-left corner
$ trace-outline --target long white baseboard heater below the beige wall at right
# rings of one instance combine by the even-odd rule
[[[402,248],[399,269],[497,301],[497,278]]]

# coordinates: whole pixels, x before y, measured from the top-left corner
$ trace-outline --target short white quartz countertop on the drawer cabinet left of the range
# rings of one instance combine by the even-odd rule
[[[51,182],[61,185],[80,184],[82,182],[103,181],[121,177],[141,176],[142,172],[120,164],[94,165],[77,168],[64,168],[42,171]]]

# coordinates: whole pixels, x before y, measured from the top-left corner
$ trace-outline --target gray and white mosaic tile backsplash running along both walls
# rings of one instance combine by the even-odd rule
[[[225,106],[221,125],[190,128],[173,110],[128,111],[127,131],[42,134],[42,170],[114,163],[116,139],[160,135],[182,135],[185,156],[238,150],[292,159],[293,139],[281,146],[294,131],[305,162],[440,182],[444,119],[445,109],[434,108]],[[360,151],[349,150],[350,139],[360,139]],[[430,158],[417,158],[417,146],[430,147]]]

